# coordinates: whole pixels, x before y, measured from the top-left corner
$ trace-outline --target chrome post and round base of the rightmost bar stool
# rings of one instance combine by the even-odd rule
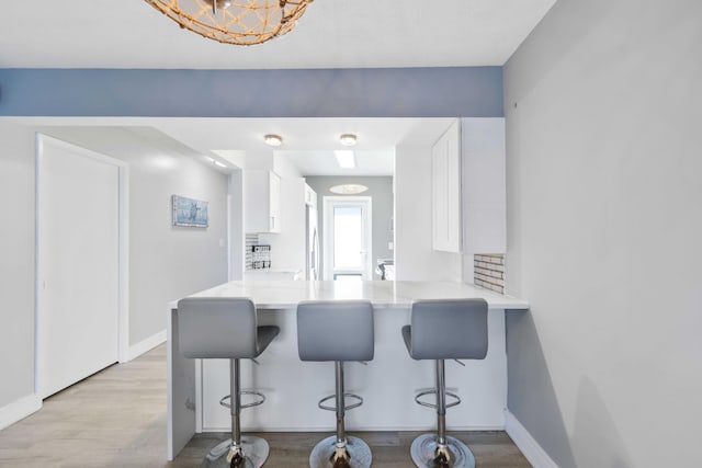
[[[475,457],[471,449],[457,438],[446,435],[443,359],[437,361],[437,434],[422,434],[412,441],[410,455],[415,465],[419,468],[475,468]]]

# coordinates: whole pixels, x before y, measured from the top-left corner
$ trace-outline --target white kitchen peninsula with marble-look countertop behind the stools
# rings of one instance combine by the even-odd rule
[[[455,364],[446,373],[448,388],[460,388],[463,402],[448,414],[450,430],[505,427],[507,355],[505,310],[528,309],[520,299],[473,285],[439,282],[230,282],[190,297],[249,297],[259,324],[276,324],[281,332],[256,365],[241,363],[244,388],[258,388],[264,404],[244,411],[246,431],[330,431],[328,415],[317,401],[333,392],[333,364],[303,363],[297,356],[296,307],[302,300],[367,299],[375,318],[375,357],[366,365],[346,366],[347,390],[364,404],[347,414],[349,431],[428,430],[435,413],[414,401],[416,392],[433,384],[433,363],[412,361],[400,328],[409,323],[418,299],[484,298],[488,303],[489,347],[483,361]],[[343,333],[343,330],[339,331]],[[317,364],[317,363],[315,363]],[[454,367],[452,362],[448,366]],[[328,367],[328,368],[327,368]],[[228,431],[228,410],[219,399],[228,393],[224,359],[185,359],[179,352],[177,303],[168,313],[168,459],[196,432]]]

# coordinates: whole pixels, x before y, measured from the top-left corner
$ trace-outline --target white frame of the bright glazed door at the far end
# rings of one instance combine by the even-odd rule
[[[363,230],[366,251],[364,279],[373,278],[373,197],[371,196],[324,196],[324,278],[333,279],[333,207],[343,205],[364,205]]]

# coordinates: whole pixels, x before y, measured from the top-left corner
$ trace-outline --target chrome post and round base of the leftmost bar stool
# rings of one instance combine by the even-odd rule
[[[270,447],[264,438],[241,435],[241,408],[252,404],[241,404],[240,374],[239,359],[229,359],[231,438],[210,450],[202,464],[203,468],[260,468],[268,459]],[[250,391],[245,393],[258,395]]]

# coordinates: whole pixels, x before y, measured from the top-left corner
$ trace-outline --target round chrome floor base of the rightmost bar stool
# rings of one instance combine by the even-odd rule
[[[422,434],[412,441],[409,453],[419,468],[475,468],[475,457],[463,442],[446,436],[444,448],[439,449],[437,434]]]

